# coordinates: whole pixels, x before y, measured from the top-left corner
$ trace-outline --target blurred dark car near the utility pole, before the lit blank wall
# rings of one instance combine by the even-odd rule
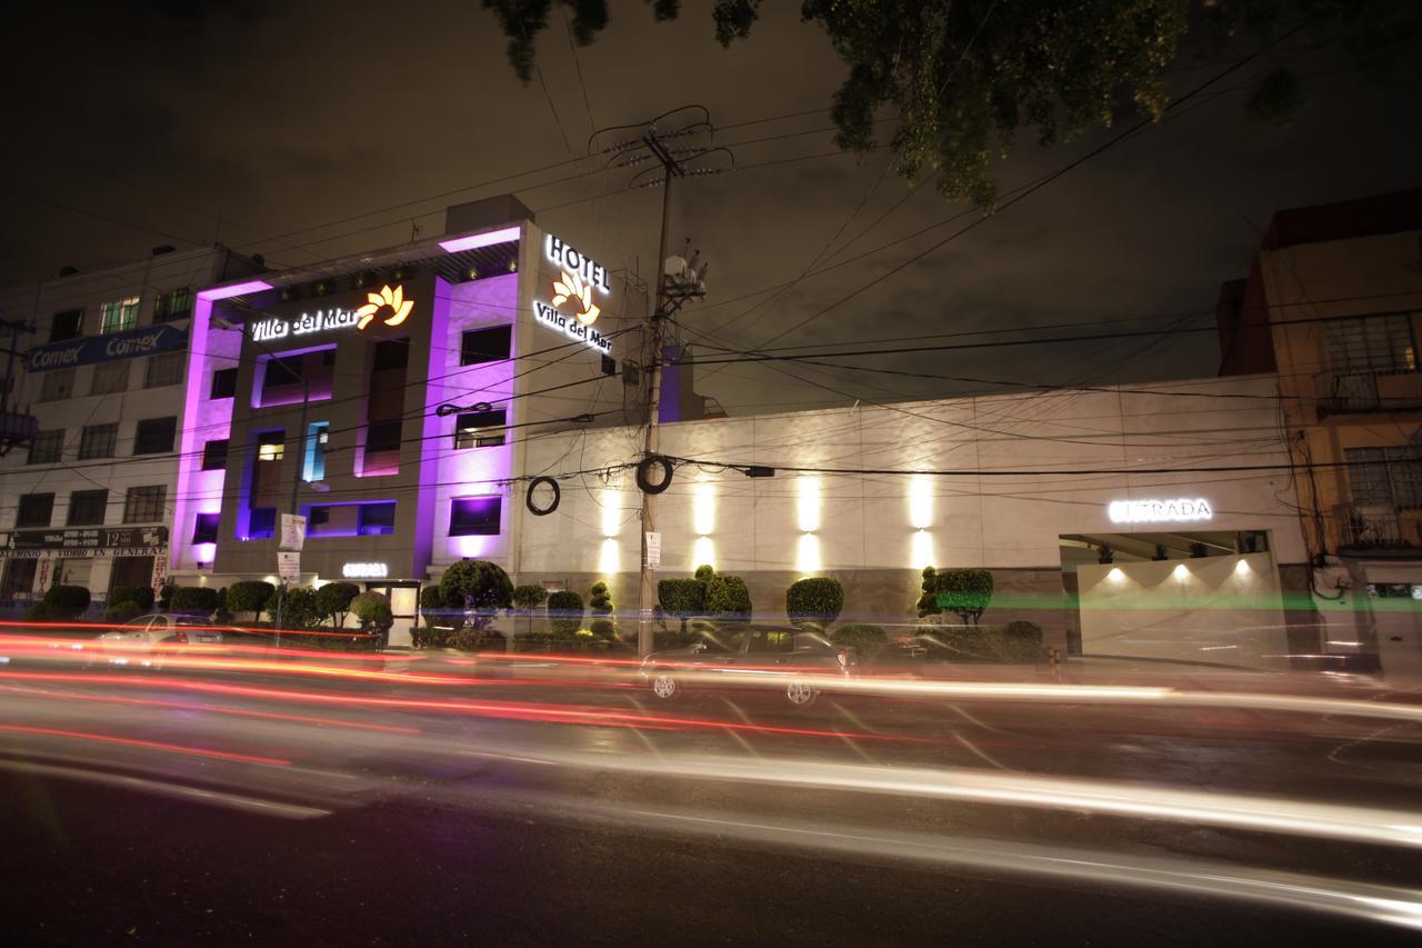
[[[820,690],[806,676],[848,678],[856,663],[855,649],[839,648],[818,632],[754,625],[708,632],[685,648],[653,652],[643,659],[640,675],[663,700],[688,689],[774,688],[791,705],[805,707]]]

